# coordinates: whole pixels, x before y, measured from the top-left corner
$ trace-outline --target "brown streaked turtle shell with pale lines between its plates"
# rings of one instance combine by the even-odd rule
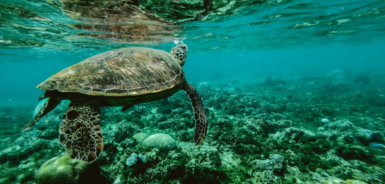
[[[78,62],[37,85],[40,90],[88,95],[127,96],[181,87],[184,73],[162,50],[122,48]]]

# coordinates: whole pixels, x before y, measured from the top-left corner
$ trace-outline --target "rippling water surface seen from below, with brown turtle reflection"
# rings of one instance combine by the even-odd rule
[[[199,20],[204,1],[122,2],[0,2],[0,48],[115,49],[186,38],[196,50],[261,49],[362,42],[382,36],[385,28],[380,0],[213,0]]]

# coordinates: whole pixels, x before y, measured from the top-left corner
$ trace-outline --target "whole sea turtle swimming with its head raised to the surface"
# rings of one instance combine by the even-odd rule
[[[60,123],[59,141],[71,158],[92,162],[103,151],[100,107],[123,106],[161,100],[184,90],[195,117],[194,143],[202,143],[208,120],[198,92],[186,81],[182,66],[186,44],[170,53],[151,48],[122,48],[97,54],[57,72],[37,85],[47,100],[23,131],[29,130],[61,100],[70,100]]]

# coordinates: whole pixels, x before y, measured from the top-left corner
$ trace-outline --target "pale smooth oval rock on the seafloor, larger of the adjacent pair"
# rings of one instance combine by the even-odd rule
[[[147,137],[142,146],[150,147],[150,148],[158,148],[163,152],[169,152],[176,148],[175,140],[164,133],[157,133]]]

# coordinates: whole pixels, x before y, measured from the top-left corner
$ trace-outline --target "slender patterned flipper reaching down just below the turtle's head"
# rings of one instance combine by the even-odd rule
[[[208,120],[206,113],[204,112],[203,103],[201,97],[199,97],[198,92],[191,84],[186,82],[184,85],[184,91],[187,96],[189,96],[192,109],[194,110],[195,118],[195,132],[194,132],[194,144],[195,146],[200,145],[204,138],[206,138]]]

